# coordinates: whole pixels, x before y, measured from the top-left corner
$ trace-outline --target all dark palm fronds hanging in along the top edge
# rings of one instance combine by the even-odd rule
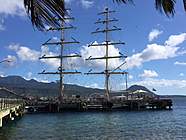
[[[117,3],[133,3],[133,0],[112,0]],[[154,0],[158,11],[167,16],[174,16],[176,0]],[[186,0],[183,0],[186,11]],[[59,26],[60,22],[54,18],[63,19],[66,15],[64,0],[24,0],[25,9],[31,18],[33,26],[44,30],[45,25]]]

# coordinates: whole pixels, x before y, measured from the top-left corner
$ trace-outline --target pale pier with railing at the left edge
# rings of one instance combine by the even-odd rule
[[[0,127],[5,122],[15,120],[24,113],[24,102],[21,99],[0,98]]]

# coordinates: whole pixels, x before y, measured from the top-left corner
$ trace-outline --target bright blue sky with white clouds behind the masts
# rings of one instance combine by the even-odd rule
[[[109,55],[127,55],[126,60],[115,59],[109,62],[110,69],[115,69],[126,61],[122,71],[128,71],[129,83],[155,88],[158,94],[186,95],[186,14],[181,1],[177,1],[174,18],[168,18],[157,12],[154,2],[143,0],[135,5],[118,5],[112,0],[66,0],[71,13],[76,18],[70,22],[77,27],[68,31],[66,39],[71,37],[80,41],[77,45],[65,47],[65,54],[82,55],[82,58],[65,61],[65,69],[103,71],[104,61],[85,61],[90,56],[104,56],[104,47],[88,47],[91,43],[103,43],[104,35],[91,35],[92,31],[103,26],[95,25],[98,12],[105,5],[116,10],[111,17],[119,19],[112,24],[122,31],[109,34],[112,41],[124,41],[124,46],[109,46]],[[180,2],[180,3],[179,3]],[[9,63],[1,63],[0,75],[20,75],[25,79],[38,81],[55,81],[57,76],[38,75],[38,72],[57,71],[58,60],[39,60],[42,55],[58,55],[59,47],[42,46],[49,38],[56,41],[58,33],[39,32],[32,27],[26,16],[23,0],[0,0],[0,60],[9,59]],[[124,76],[111,76],[110,88],[125,88]],[[103,76],[66,76],[66,83],[87,87],[104,87]],[[117,84],[116,84],[117,83]]]

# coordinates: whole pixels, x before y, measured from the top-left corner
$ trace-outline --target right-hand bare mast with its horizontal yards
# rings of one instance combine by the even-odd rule
[[[112,42],[111,40],[109,40],[109,33],[110,32],[114,32],[114,31],[120,31],[121,28],[118,28],[116,26],[113,26],[112,28],[109,27],[111,22],[117,22],[118,20],[113,18],[110,18],[110,14],[115,13],[115,11],[111,11],[109,10],[109,8],[105,8],[105,10],[101,13],[98,13],[98,15],[102,15],[105,18],[103,20],[99,19],[98,21],[95,22],[95,24],[104,24],[105,28],[103,30],[100,30],[99,28],[95,31],[92,32],[92,34],[96,34],[96,33],[104,33],[105,34],[105,40],[104,43],[102,44],[90,44],[90,46],[103,46],[105,47],[105,56],[103,57],[98,57],[98,58],[92,58],[89,57],[86,60],[97,60],[97,59],[104,59],[105,60],[105,70],[103,72],[88,72],[85,73],[87,75],[91,75],[91,74],[104,74],[105,75],[105,98],[107,101],[110,100],[109,97],[109,78],[111,74],[128,74],[125,71],[122,72],[118,72],[117,70],[120,69],[121,66],[123,66],[126,62],[122,63],[120,66],[118,66],[117,68],[115,68],[114,70],[110,70],[109,69],[109,60],[110,59],[115,59],[115,58],[127,58],[127,56],[125,55],[120,55],[120,56],[109,56],[109,46],[110,45],[125,45],[124,42]]]

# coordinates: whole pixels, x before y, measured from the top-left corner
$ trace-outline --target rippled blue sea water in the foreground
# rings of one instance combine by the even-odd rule
[[[25,115],[0,130],[0,140],[185,140],[186,98],[172,111]]]

